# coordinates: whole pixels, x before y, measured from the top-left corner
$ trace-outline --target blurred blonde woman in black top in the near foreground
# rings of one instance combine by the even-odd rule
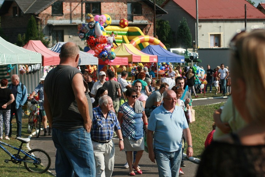
[[[264,176],[265,30],[239,33],[230,48],[232,99],[247,125],[206,148],[197,176]],[[255,72],[242,72],[247,70]],[[258,84],[249,79],[254,77],[260,78]]]

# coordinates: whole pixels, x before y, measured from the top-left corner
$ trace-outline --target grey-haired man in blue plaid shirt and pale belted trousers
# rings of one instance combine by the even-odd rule
[[[96,177],[110,177],[114,168],[114,131],[119,137],[119,148],[123,150],[123,137],[119,121],[112,111],[112,99],[104,95],[99,99],[99,107],[93,109],[91,140],[94,149]]]

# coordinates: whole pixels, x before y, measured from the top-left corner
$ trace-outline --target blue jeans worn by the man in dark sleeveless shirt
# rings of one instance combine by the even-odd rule
[[[56,151],[56,176],[95,177],[95,159],[90,133],[84,128],[71,132],[63,132],[57,128],[52,130],[52,138]]]

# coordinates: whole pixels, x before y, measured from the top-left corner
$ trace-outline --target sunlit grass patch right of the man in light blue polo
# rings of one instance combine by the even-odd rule
[[[224,103],[217,103],[208,106],[195,106],[195,122],[189,124],[192,135],[193,157],[200,159],[204,151],[204,142],[207,135],[212,131],[213,112]],[[185,145],[187,147],[187,143]],[[186,150],[184,151],[186,153]]]

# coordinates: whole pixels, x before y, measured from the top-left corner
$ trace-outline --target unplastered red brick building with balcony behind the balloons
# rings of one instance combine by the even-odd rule
[[[1,27],[9,42],[15,43],[19,33],[26,33],[28,20],[33,15],[50,40],[50,46],[71,41],[83,48],[77,24],[85,22],[86,13],[108,14],[113,26],[119,26],[119,20],[127,18],[129,26],[137,26],[145,35],[153,36],[154,3],[151,0],[5,0],[0,9]],[[156,6],[156,14],[166,13]]]

